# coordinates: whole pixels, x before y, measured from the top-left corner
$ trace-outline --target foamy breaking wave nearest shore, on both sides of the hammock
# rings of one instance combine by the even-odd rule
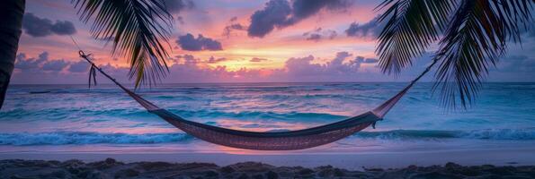
[[[272,130],[281,132],[287,130]],[[474,139],[474,140],[535,140],[535,129],[501,129],[477,131],[431,131],[394,130],[385,132],[357,132],[352,137],[372,140],[432,140],[432,139]],[[152,144],[183,143],[194,138],[185,133],[100,133],[100,132],[40,132],[0,133],[0,145],[84,145],[84,144]]]

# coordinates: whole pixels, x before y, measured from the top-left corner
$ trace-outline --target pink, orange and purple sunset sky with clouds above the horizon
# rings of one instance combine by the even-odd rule
[[[382,28],[374,7],[380,1],[165,1],[174,30],[164,83],[410,81],[432,54],[430,49],[400,74],[380,72],[374,52]],[[12,83],[85,83],[89,65],[69,36],[103,70],[131,83],[127,61],[111,55],[110,45],[94,39],[90,27],[79,21],[70,0],[26,1]],[[535,81],[535,33],[522,37],[486,81]],[[424,81],[432,79],[431,74]]]

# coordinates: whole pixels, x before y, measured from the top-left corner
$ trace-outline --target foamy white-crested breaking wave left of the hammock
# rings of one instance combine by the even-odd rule
[[[69,144],[150,144],[191,141],[185,133],[99,133],[99,132],[40,132],[0,133],[0,145],[69,145]]]

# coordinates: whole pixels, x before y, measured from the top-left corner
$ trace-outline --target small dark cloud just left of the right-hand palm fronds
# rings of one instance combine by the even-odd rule
[[[349,28],[345,30],[345,34],[355,38],[377,38],[384,27],[383,24],[379,24],[378,20],[379,16],[364,24],[352,22]]]

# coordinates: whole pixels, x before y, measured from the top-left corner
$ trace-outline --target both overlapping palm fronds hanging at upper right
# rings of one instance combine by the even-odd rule
[[[532,28],[535,0],[384,0],[376,53],[379,67],[397,73],[415,57],[438,45],[432,64],[433,91],[448,107],[473,103],[488,70],[504,56],[507,45],[520,43]]]

